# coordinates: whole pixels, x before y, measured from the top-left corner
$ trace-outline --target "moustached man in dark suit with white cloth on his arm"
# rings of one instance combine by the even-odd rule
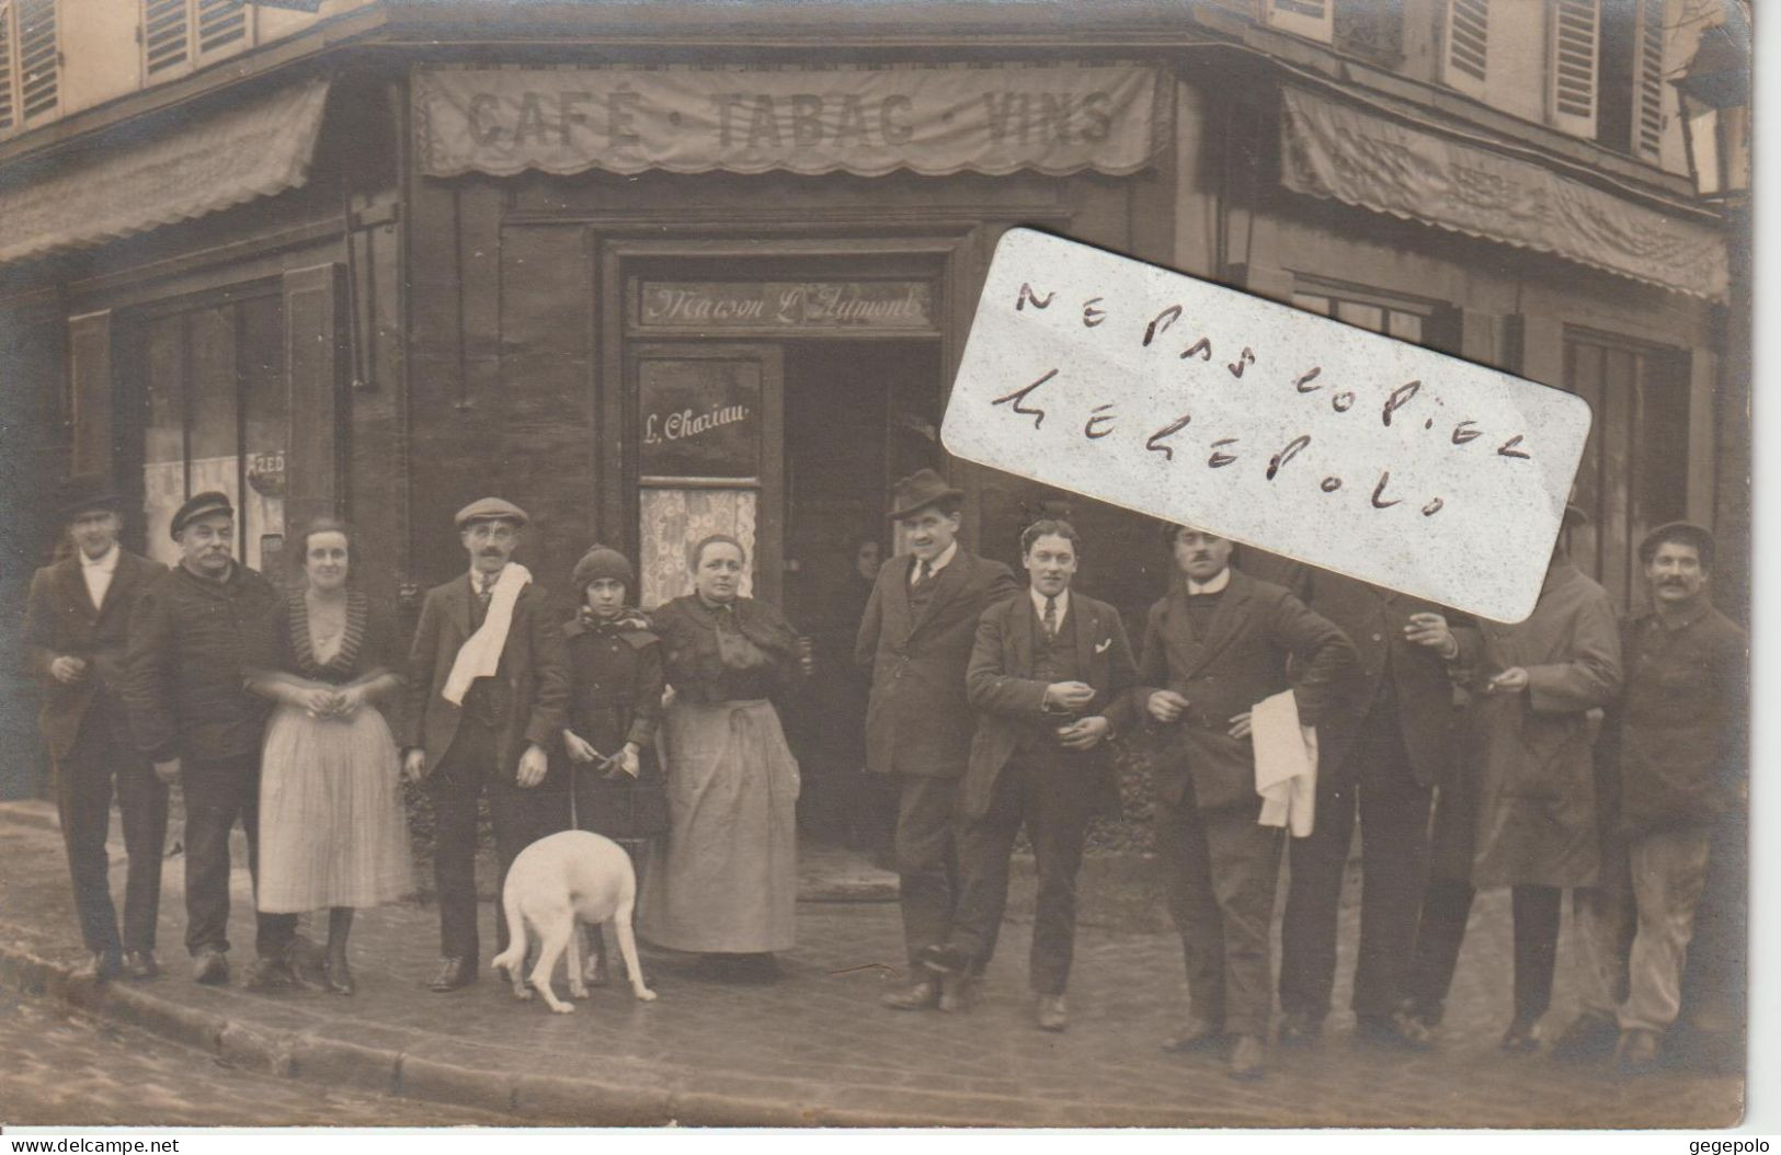
[[[1179,582],[1151,607],[1129,710],[1165,730],[1156,765],[1156,840],[1181,931],[1191,1011],[1168,1050],[1232,1039],[1231,1075],[1265,1071],[1273,1011],[1273,890],[1281,831],[1259,826],[1250,708],[1288,689],[1318,726],[1354,667],[1354,646],[1281,586],[1231,568],[1231,541],[1170,527]],[[1118,712],[1117,712],[1118,715]]]

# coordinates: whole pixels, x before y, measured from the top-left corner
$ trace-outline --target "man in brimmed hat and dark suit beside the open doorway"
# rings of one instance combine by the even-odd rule
[[[921,950],[946,941],[958,893],[958,783],[976,730],[965,666],[978,618],[1021,589],[1008,566],[958,545],[962,502],[964,491],[933,470],[896,484],[890,520],[903,523],[910,552],[880,568],[853,646],[873,678],[866,767],[898,781],[896,868],[910,986],[883,998],[898,1011],[942,1006],[942,981]],[[956,991],[944,1004],[955,1009]]]

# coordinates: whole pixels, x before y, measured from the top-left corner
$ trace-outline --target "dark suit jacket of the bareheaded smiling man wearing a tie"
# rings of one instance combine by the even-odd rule
[[[969,819],[988,812],[996,779],[1035,724],[1061,726],[1069,721],[1044,708],[1049,682],[1033,676],[1035,625],[1033,602],[1024,596],[997,602],[983,610],[978,621],[978,639],[965,671],[965,691],[971,705],[978,708],[978,730],[971,739],[971,765],[965,771]],[[1138,667],[1131,660],[1131,642],[1126,641],[1126,625],[1111,605],[1072,589],[1070,610],[1060,634],[1063,632],[1074,639],[1076,658],[1081,664],[1079,680],[1095,689],[1094,701],[1081,715],[1104,715],[1138,676]],[[1072,769],[1079,769],[1088,779],[1085,787],[1092,810],[1118,810],[1118,781],[1113,778],[1106,742],[1090,751],[1058,747],[1058,753],[1079,763]]]

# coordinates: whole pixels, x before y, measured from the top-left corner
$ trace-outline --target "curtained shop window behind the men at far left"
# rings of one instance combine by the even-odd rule
[[[290,402],[280,297],[183,310],[142,324],[142,511],[167,564],[173,511],[205,489],[235,504],[235,555],[260,569],[285,532]]]

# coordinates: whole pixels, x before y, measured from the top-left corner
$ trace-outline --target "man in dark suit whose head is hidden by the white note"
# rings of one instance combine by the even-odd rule
[[[1428,870],[1428,806],[1453,755],[1457,710],[1450,664],[1478,650],[1469,619],[1448,626],[1441,607],[1329,569],[1305,568],[1311,609],[1359,653],[1339,687],[1343,708],[1318,728],[1316,824],[1293,838],[1281,933],[1282,1043],[1323,1029],[1336,981],[1336,908],[1361,817],[1361,952],[1354,973],[1359,1032],[1403,1043],[1393,1011],[1416,945]]]

